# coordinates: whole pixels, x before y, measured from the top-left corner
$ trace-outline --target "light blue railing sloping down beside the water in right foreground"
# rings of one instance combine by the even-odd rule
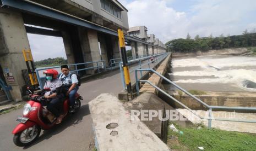
[[[208,118],[204,118],[201,117],[201,115],[198,115],[197,113],[195,113],[194,111],[192,111],[192,109],[190,109],[189,107],[187,107],[185,104],[183,104],[182,102],[179,102],[175,97],[172,97],[171,95],[169,95],[167,92],[165,92],[164,90],[160,89],[158,86],[152,84],[149,80],[139,80],[138,78],[138,71],[149,71],[149,72],[153,72],[156,75],[159,75],[160,78],[164,79],[166,82],[172,84],[173,86],[175,86],[177,89],[183,91],[185,94],[187,94],[188,96],[194,98],[194,100],[198,101],[199,103],[203,104],[205,107],[209,108],[209,116]],[[205,102],[201,101],[199,98],[195,97],[194,95],[190,94],[188,91],[184,90],[183,88],[181,88],[180,86],[178,86],[176,83],[172,82],[171,80],[167,79],[166,77],[164,77],[164,75],[161,75],[160,73],[156,72],[154,69],[135,69],[135,80],[136,80],[136,89],[137,89],[137,94],[139,95],[139,83],[148,83],[151,86],[153,86],[154,88],[156,88],[157,90],[161,91],[163,94],[165,94],[166,96],[168,96],[169,98],[171,98],[173,101],[177,102],[178,104],[180,104],[182,107],[188,109],[188,111],[190,111],[191,113],[193,113],[194,115],[196,115],[197,117],[199,117],[200,119],[206,119],[208,120],[208,127],[211,128],[211,120],[222,120],[222,121],[237,121],[237,122],[244,122],[244,123],[256,123],[256,120],[241,120],[241,119],[222,119],[222,118],[213,118],[213,113],[212,110],[213,109],[234,109],[234,110],[244,110],[244,111],[256,111],[256,107],[226,107],[226,106],[209,106],[208,104],[206,104]]]

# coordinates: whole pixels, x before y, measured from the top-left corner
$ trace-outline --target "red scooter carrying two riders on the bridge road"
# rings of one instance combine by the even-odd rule
[[[75,95],[75,112],[81,107],[83,98]],[[23,117],[18,117],[20,123],[13,130],[13,142],[15,145],[23,147],[32,144],[40,135],[41,129],[48,130],[56,125],[56,117],[47,111],[43,104],[48,100],[39,95],[32,95],[31,99],[24,105]],[[74,113],[75,113],[74,112]],[[63,118],[69,113],[69,99],[63,102]]]

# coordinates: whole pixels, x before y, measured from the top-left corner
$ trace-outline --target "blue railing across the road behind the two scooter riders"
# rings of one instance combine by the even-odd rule
[[[80,68],[78,69],[78,66],[85,65],[85,66],[90,66],[90,67],[85,67],[85,68]],[[55,68],[60,68],[61,66],[55,66],[55,67],[45,67],[45,68],[40,68],[36,69],[36,77],[39,80],[39,86],[40,89],[43,89],[43,85],[45,84],[45,76],[40,77],[39,71],[43,71],[45,69],[55,69]],[[100,73],[101,68],[106,69],[106,63],[105,60],[100,60],[100,61],[91,61],[91,62],[84,62],[84,63],[74,63],[71,65],[68,65],[70,69],[74,68],[73,70],[70,70],[70,72],[77,72],[79,71],[86,71],[88,69],[97,69],[97,72]]]

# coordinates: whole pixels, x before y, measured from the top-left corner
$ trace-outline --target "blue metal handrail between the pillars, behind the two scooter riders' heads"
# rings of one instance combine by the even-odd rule
[[[82,69],[78,69],[77,66],[78,65],[88,65],[88,64],[92,64],[92,63],[96,63],[97,66],[92,66],[92,67],[86,67],[86,68],[82,68]],[[95,69],[97,68],[97,72],[99,73],[100,72],[100,68],[104,68],[106,69],[106,63],[105,63],[105,60],[100,60],[100,61],[91,61],[91,62],[83,62],[83,63],[74,63],[74,64],[70,64],[68,65],[68,67],[70,66],[75,66],[75,69],[70,71],[70,72],[78,72],[79,71],[84,71],[84,70],[87,70],[87,69]],[[59,68],[61,66],[53,66],[53,67],[45,67],[45,68],[40,68],[40,69],[36,69],[35,72],[36,72],[36,77],[37,79],[39,80],[39,86],[40,86],[40,89],[43,89],[43,83],[42,83],[42,80],[41,79],[45,79],[45,77],[40,77],[39,75],[39,71],[42,71],[42,70],[45,70],[45,69],[52,69],[52,68]]]

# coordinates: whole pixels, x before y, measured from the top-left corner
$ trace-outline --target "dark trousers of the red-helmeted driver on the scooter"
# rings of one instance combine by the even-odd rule
[[[62,113],[62,100],[61,98],[55,97],[47,104],[48,111],[52,112],[56,117],[59,117]]]

